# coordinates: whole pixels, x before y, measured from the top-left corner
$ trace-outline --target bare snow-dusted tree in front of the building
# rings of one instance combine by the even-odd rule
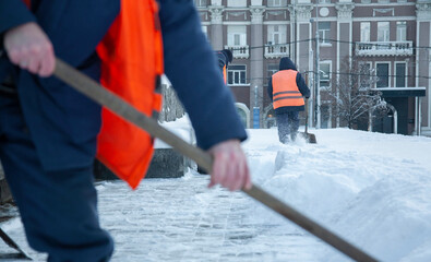
[[[367,121],[369,130],[375,111],[385,111],[386,103],[382,93],[374,88],[378,76],[370,64],[357,57],[346,58],[342,63],[338,78],[333,78],[333,88],[327,90],[336,106],[335,116],[352,129],[358,122]],[[379,110],[376,110],[379,109]]]

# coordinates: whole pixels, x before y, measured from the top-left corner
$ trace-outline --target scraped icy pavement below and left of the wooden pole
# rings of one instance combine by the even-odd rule
[[[98,183],[100,222],[116,241],[112,261],[316,261],[310,250],[323,243],[314,237],[259,222],[253,200],[207,182],[191,171],[145,179],[136,191],[121,181]],[[46,260],[26,245],[17,218],[2,228],[35,261]],[[0,252],[13,251],[3,246]]]

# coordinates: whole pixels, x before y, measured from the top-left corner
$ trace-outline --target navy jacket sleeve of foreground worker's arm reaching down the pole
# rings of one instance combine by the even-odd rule
[[[247,139],[193,1],[160,0],[165,73],[185,107],[203,150]]]

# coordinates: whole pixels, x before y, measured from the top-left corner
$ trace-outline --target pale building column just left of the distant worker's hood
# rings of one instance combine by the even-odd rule
[[[255,2],[255,1],[254,1]],[[262,1],[260,1],[262,2]],[[252,127],[263,127],[263,13],[265,8],[262,5],[251,5],[251,35],[250,35],[250,109]]]

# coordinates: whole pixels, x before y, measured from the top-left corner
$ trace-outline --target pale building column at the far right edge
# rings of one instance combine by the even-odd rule
[[[416,4],[416,14],[417,14],[417,46],[424,47],[431,46],[431,0],[428,1],[417,1]],[[423,132],[423,134],[431,135],[431,49],[430,48],[418,48],[416,51],[416,87],[426,87],[426,97],[421,103],[421,108],[419,111],[422,112],[422,116],[419,116],[421,119],[421,127],[419,127]]]

